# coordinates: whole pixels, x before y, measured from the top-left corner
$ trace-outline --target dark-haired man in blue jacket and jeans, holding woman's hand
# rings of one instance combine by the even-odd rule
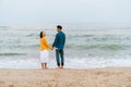
[[[58,69],[63,69],[64,65],[63,48],[66,44],[66,35],[62,32],[62,26],[60,25],[57,26],[57,32],[58,34],[56,35],[52,47],[56,48],[56,59]]]

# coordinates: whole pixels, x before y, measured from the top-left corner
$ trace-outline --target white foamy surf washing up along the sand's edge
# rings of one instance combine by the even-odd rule
[[[20,59],[8,60],[0,59],[0,67],[2,69],[40,69],[39,59]],[[50,59],[48,66],[53,69],[57,66],[56,60]],[[90,67],[105,67],[105,66],[131,66],[130,55],[124,58],[66,58],[67,69],[90,69]]]

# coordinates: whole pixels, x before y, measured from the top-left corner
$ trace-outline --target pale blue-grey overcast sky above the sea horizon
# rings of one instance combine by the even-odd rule
[[[0,25],[131,22],[131,0],[0,0]]]

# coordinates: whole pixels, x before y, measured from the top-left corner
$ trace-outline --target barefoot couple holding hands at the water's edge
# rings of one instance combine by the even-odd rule
[[[49,46],[46,39],[46,33],[40,32],[40,62],[41,69],[47,69],[47,63],[49,60],[49,52],[48,49],[53,50],[56,49],[56,60],[58,69],[63,69],[64,65],[64,57],[63,57],[63,48],[66,44],[66,35],[62,32],[62,26],[57,26],[58,34],[56,35],[55,41],[52,46]]]

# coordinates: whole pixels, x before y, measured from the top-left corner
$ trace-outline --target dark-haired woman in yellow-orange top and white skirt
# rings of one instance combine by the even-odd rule
[[[48,49],[52,50],[52,47],[49,46],[47,39],[46,39],[46,33],[40,32],[40,62],[41,62],[41,69],[47,69],[47,63],[49,60],[49,52]]]

